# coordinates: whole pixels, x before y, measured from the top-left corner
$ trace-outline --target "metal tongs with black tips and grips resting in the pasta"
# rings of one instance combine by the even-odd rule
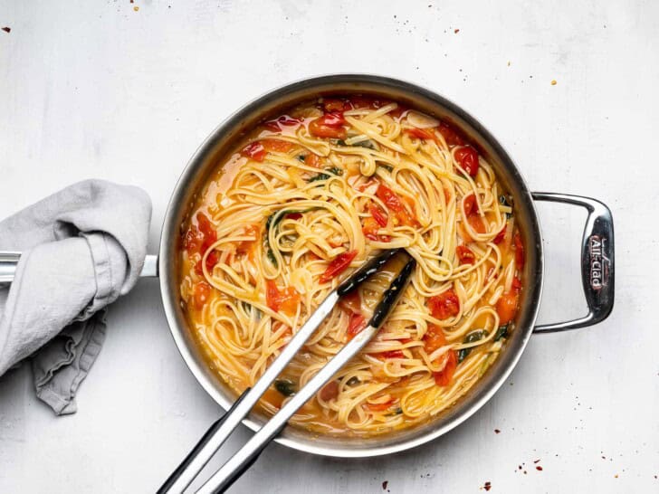
[[[382,299],[373,311],[373,316],[370,318],[368,326],[360,331],[357,336],[353,337],[345,347],[341,348],[339,353],[322,367],[318,374],[310,379],[307,385],[302,387],[297,394],[294,394],[288,403],[284,404],[282,409],[278,413],[275,413],[270,421],[265,423],[253,435],[252,439],[246,442],[243,448],[237,451],[231,459],[226,461],[196,492],[205,494],[224,492],[244,471],[252,466],[253,462],[256,461],[268,443],[282,432],[291,416],[303,404],[307,403],[323,385],[330,381],[333,375],[339,372],[339,369],[352,356],[355,356],[377,334],[377,330],[385,321],[391,309],[396,305],[396,300],[405,288],[406,282],[415,268],[415,260],[404,249],[392,249],[382,252],[353,273],[337,289],[332,290],[327,298],[320,303],[318,309],[311,314],[309,320],[291,338],[288,345],[282,349],[282,353],[265,370],[263,376],[256,384],[252,388],[245,389],[244,393],[240,395],[233,406],[224,413],[224,416],[211,425],[201,440],[197,442],[195,448],[181,462],[177,470],[174,470],[162,487],[158,489],[158,493],[181,493],[195,480],[197,474],[205,467],[205,464],[213,457],[220,446],[222,446],[231,432],[234,432],[235,427],[241,423],[247,413],[257,404],[263,393],[272,385],[272,382],[282,373],[282,370],[288,365],[291,358],[298,353],[316,328],[330,314],[331,309],[339,301],[339,298],[355,290],[360,283],[375,274],[396,253],[405,255],[407,261],[396,278],[392,280],[389,288],[383,293]]]

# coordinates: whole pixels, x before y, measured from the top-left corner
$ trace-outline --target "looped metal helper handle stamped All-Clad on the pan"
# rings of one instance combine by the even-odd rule
[[[581,281],[588,305],[583,318],[554,324],[541,324],[534,333],[554,333],[566,329],[586,328],[608,317],[613,309],[615,262],[613,217],[606,204],[597,199],[580,195],[534,192],[536,201],[574,204],[585,207],[588,212],[584,236],[581,242]]]

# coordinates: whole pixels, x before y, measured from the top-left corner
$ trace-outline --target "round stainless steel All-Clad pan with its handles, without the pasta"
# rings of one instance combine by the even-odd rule
[[[585,328],[604,320],[614,303],[613,220],[605,204],[575,195],[531,193],[511,157],[478,120],[445,98],[414,84],[374,75],[339,74],[294,82],[263,95],[239,109],[206,138],[187,164],[167,206],[158,258],[148,256],[143,275],[160,277],[167,321],[177,347],[190,371],[206,392],[224,409],[235,400],[234,393],[208,368],[188,331],[179,296],[178,239],[181,224],[205,179],[244,131],[279,109],[301,100],[332,93],[373,94],[397,100],[425,111],[460,128],[494,167],[513,196],[516,217],[527,250],[522,273],[524,290],[516,328],[508,338],[501,356],[453,407],[412,429],[367,438],[318,436],[298,428],[284,429],[276,440],[286,446],[314,454],[337,457],[364,457],[413,448],[450,431],[482,407],[511,374],[531,334]],[[542,291],[544,258],[542,235],[534,201],[574,204],[587,209],[587,222],[581,245],[581,275],[588,313],[583,318],[536,326]],[[17,256],[0,257],[0,282],[10,280]],[[266,420],[253,413],[244,423],[253,431]],[[195,438],[191,438],[191,442]]]

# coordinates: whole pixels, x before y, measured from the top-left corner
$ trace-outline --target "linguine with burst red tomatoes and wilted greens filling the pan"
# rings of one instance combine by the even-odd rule
[[[510,195],[445,122],[360,95],[263,122],[182,225],[181,298],[208,363],[253,385],[329,291],[382,249],[417,266],[377,337],[295,415],[377,434],[455,403],[513,329],[524,248]],[[275,413],[366,325],[387,270],[343,299],[264,395]]]

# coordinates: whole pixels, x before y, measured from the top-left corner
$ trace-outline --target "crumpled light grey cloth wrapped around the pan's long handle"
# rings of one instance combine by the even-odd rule
[[[23,252],[14,282],[0,288],[0,375],[32,356],[37,396],[75,413],[105,307],[142,270],[150,220],[143,190],[86,180],[0,222],[0,251]]]

